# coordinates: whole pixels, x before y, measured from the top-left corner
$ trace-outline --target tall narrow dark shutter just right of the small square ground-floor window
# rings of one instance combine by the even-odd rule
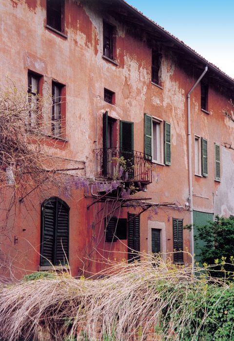
[[[136,214],[128,213],[128,220]],[[140,259],[140,216],[136,216],[128,223],[128,261]]]

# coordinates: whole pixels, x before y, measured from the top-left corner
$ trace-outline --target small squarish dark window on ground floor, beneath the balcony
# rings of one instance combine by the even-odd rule
[[[127,239],[127,219],[112,217],[105,222],[105,241],[115,242],[117,239]]]

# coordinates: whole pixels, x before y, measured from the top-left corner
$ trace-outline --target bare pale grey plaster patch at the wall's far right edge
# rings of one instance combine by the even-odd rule
[[[221,182],[218,187],[218,195],[215,195],[215,214],[225,216],[234,214],[234,162],[231,149],[221,147]]]

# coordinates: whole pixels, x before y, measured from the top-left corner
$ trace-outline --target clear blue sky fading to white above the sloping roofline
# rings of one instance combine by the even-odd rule
[[[127,0],[234,78],[234,0]]]

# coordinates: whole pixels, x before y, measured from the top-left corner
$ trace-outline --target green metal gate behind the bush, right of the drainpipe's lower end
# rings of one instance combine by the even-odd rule
[[[205,213],[194,211],[194,236],[198,235],[197,226],[205,226],[209,221],[214,220],[213,213]],[[205,242],[202,239],[194,240],[194,253],[195,253],[195,262],[199,262],[199,266],[202,266],[200,260],[200,252],[201,247],[205,245]]]

